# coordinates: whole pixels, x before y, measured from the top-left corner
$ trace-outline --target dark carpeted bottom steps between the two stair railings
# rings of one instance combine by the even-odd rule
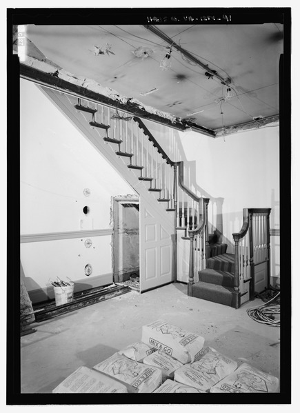
[[[192,285],[192,296],[232,306],[234,254],[228,254],[227,244],[209,238],[208,268],[199,271],[199,281]]]

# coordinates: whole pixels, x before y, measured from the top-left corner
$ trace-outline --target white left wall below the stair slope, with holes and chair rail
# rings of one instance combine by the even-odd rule
[[[134,194],[130,185],[34,83],[23,79],[20,105],[21,235],[111,228],[111,197]],[[85,188],[90,190],[89,197],[83,194]],[[87,215],[85,205],[90,208]],[[84,241],[22,243],[28,292],[47,289],[49,279],[57,275],[88,283],[83,288],[95,286],[93,279],[108,283],[112,279],[111,236],[94,236],[91,248]],[[84,274],[86,263],[93,267],[89,277]]]

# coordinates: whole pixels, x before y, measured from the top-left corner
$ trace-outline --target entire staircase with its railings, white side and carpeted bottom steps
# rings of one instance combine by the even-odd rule
[[[210,199],[198,197],[185,185],[183,162],[168,157],[141,119],[86,98],[53,94],[52,99],[133,188],[139,185],[143,199],[152,203],[154,197],[170,238],[177,239],[175,261],[190,243],[188,295],[233,308],[254,299],[254,266],[265,252],[270,272],[269,208],[243,210],[242,228],[232,234],[234,254],[228,253],[228,245],[216,233],[208,234]]]

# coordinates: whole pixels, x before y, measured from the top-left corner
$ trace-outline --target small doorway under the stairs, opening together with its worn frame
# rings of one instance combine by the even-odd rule
[[[112,274],[114,283],[139,291],[139,198],[112,197]]]

